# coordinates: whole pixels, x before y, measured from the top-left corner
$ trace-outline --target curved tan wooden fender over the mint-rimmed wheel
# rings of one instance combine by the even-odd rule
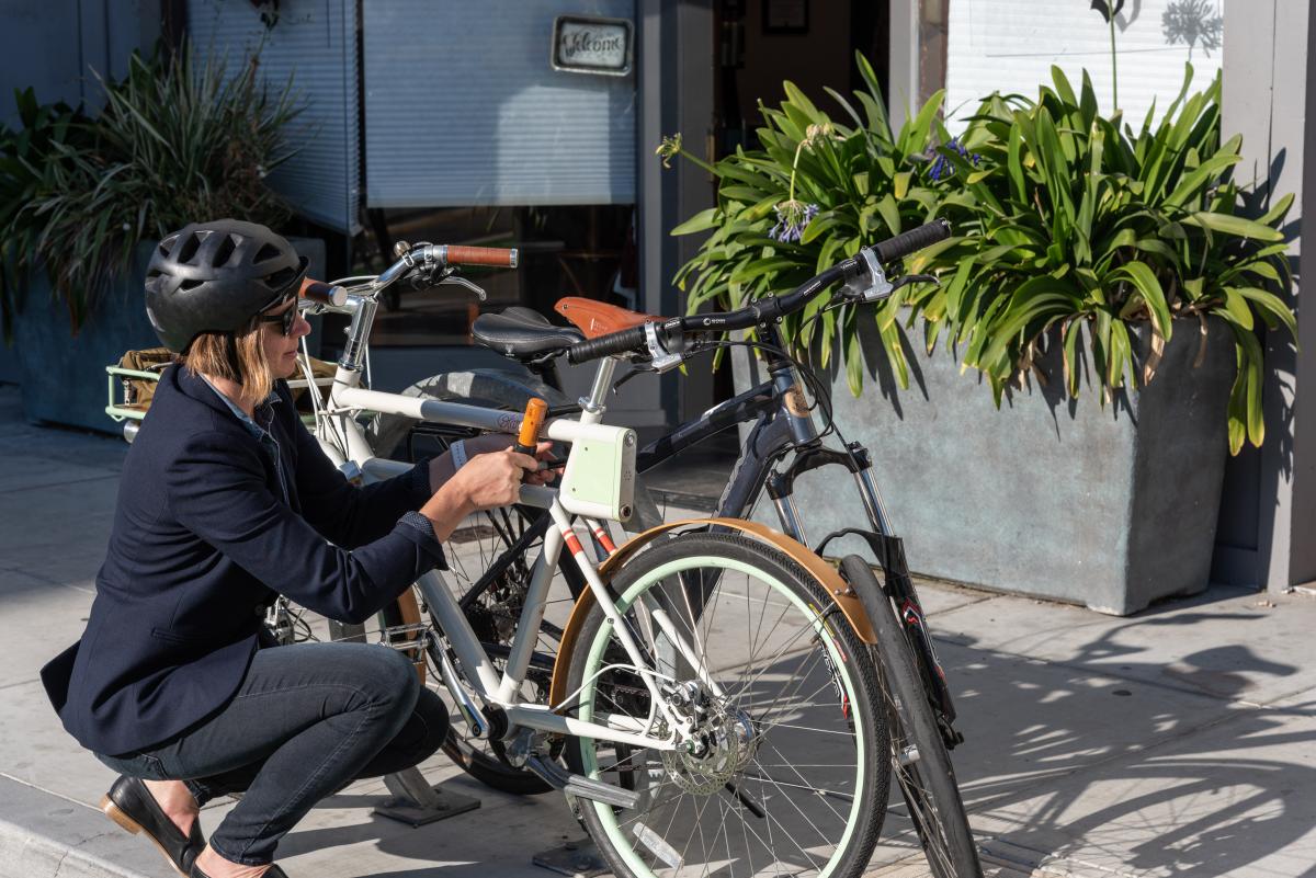
[[[845,614],[846,620],[849,620],[850,627],[854,628],[854,632],[859,635],[861,640],[867,644],[878,643],[878,635],[873,630],[873,623],[869,620],[869,615],[863,611],[863,605],[859,602],[858,595],[855,595],[854,589],[851,589],[846,581],[841,578],[837,569],[815,555],[809,547],[791,539],[780,531],[774,531],[771,527],[759,524],[758,522],[746,522],[740,518],[687,518],[680,522],[671,522],[670,524],[650,527],[644,534],[637,534],[625,545],[613,552],[603,564],[600,564],[599,577],[604,582],[611,581],[612,574],[626,561],[626,559],[651,543],[655,538],[678,527],[690,526],[726,527],[767,543],[803,566],[804,570],[817,581],[819,586],[821,586],[826,595],[832,598],[841,612]],[[562,701],[570,694],[567,690],[567,677],[571,673],[571,653],[575,649],[575,641],[580,635],[580,628],[584,626],[586,616],[588,616],[590,610],[594,609],[595,603],[594,591],[586,588],[586,590],[582,591],[580,597],[576,599],[575,606],[571,609],[571,618],[567,619],[567,626],[562,632],[562,641],[558,647],[558,657],[553,664],[553,683],[549,687],[550,705],[562,703]]]

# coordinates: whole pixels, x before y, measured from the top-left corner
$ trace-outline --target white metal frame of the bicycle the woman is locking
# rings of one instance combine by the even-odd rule
[[[321,448],[324,448],[336,465],[351,469],[347,464],[357,464],[366,478],[370,480],[388,478],[409,468],[408,464],[374,456],[365,431],[357,421],[357,415],[363,411],[403,415],[417,421],[472,427],[494,432],[515,434],[519,431],[522,418],[520,413],[425,400],[397,393],[382,393],[362,388],[361,365],[366,351],[365,342],[374,322],[375,308],[376,301],[372,296],[350,296],[347,305],[343,308],[322,309],[353,314],[349,342],[338,363],[333,386],[329,390],[328,404],[322,410],[317,411],[316,418],[316,436],[320,440]],[[578,438],[584,438],[591,425],[601,422],[604,401],[608,389],[612,386],[616,363],[612,358],[603,359],[599,363],[599,371],[595,376],[590,397],[582,400],[584,410],[579,421],[569,418],[549,421],[544,430],[547,439],[574,443]],[[332,436],[328,435],[330,432]],[[569,452],[569,461],[570,455],[574,452],[575,446]],[[691,737],[694,722],[672,710],[669,698],[662,693],[663,682],[675,681],[649,665],[644,652],[633,637],[630,627],[622,619],[616,603],[608,594],[608,589],[599,577],[597,568],[586,555],[584,547],[574,532],[576,520],[584,520],[595,531],[600,530],[601,524],[594,519],[578,519],[578,517],[569,514],[558,498],[558,492],[550,488],[525,485],[521,488],[520,502],[526,506],[549,510],[554,527],[545,531],[544,549],[532,569],[524,609],[517,622],[516,635],[501,674],[497,673],[484,648],[480,645],[479,637],[454,598],[442,572],[432,570],[416,582],[429,607],[430,618],[437,622],[440,634],[446,637],[458,658],[466,683],[471,686],[475,697],[486,706],[495,706],[505,711],[508,727],[503,736],[504,740],[513,737],[520,727],[541,732],[634,744],[659,751],[676,749]],[[566,705],[570,705],[584,686],[571,693],[562,705],[540,705],[517,699],[521,686],[525,682],[536,639],[544,620],[549,586],[551,585],[553,573],[557,569],[563,544],[571,547],[570,551],[588,584],[594,599],[603,610],[611,630],[626,651],[630,665],[621,666],[634,670],[644,680],[649,690],[651,697],[650,705],[653,707],[645,722],[638,722],[629,716],[603,715],[597,711],[595,712],[596,722],[586,722],[557,712]],[[658,628],[661,628],[662,636],[671,644],[671,648],[688,662],[691,670],[700,677],[711,693],[716,697],[722,697],[721,689],[711,678],[697,653],[691,649],[667,612],[662,607],[653,606],[653,602],[645,602],[644,606]],[[490,728],[487,719],[465,690],[457,669],[447,661],[447,655],[442,649],[441,641],[438,647],[437,652],[442,657],[440,676],[445,686],[450,690],[458,705],[458,710],[471,726],[475,736],[486,737]],[[569,657],[559,657],[558,660],[562,661],[565,658]],[[608,665],[597,673],[601,674],[617,666]],[[584,685],[592,681],[586,681]],[[659,719],[666,726],[667,733],[665,736],[659,736],[655,732]]]

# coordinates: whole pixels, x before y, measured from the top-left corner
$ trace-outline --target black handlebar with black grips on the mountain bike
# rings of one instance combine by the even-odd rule
[[[878,298],[890,296],[890,284],[886,284],[886,276],[882,271],[883,264],[908,256],[949,237],[950,223],[945,220],[933,220],[895,238],[888,238],[871,247],[862,248],[858,256],[851,256],[832,266],[816,277],[804,281],[804,284],[796,287],[786,296],[769,296],[745,308],[721,314],[674,317],[662,323],[658,333],[666,340],[672,340],[679,339],[686,331],[726,331],[774,322],[803,309],[815,296],[832,284],[862,276],[867,276],[874,284],[876,281],[883,284],[883,290],[879,294],[863,297],[863,301],[876,301]],[[572,364],[586,363],[615,354],[636,351],[644,348],[646,344],[645,327],[634,326],[619,333],[609,333],[599,338],[576,342],[567,348],[567,360]]]

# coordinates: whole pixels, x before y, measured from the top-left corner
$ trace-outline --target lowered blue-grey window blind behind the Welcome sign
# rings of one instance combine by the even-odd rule
[[[372,208],[633,204],[636,78],[555,71],[553,20],[634,0],[363,7]]]

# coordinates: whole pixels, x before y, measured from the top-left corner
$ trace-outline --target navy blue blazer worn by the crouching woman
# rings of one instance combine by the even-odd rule
[[[358,488],[307,432],[287,384],[270,435],[287,473],[199,376],[170,367],[124,461],[87,630],[41,676],[97,753],[146,749],[228,703],[275,593],[362,622],[443,563],[428,465]]]

